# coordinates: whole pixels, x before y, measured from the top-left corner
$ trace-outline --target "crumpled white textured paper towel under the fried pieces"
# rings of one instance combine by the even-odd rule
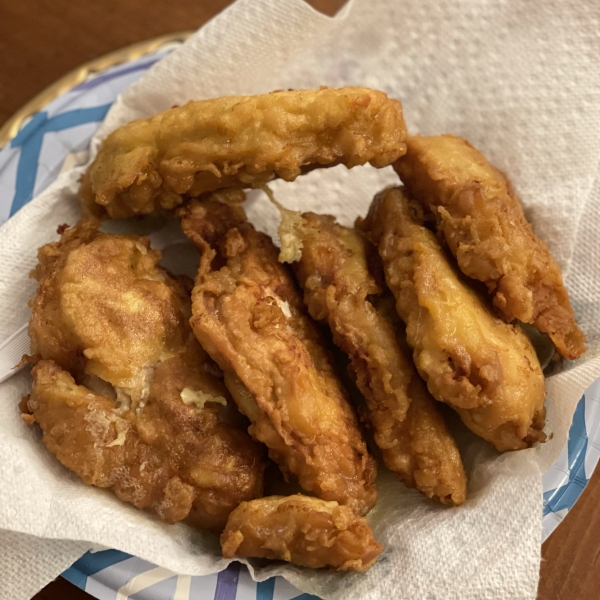
[[[382,89],[403,102],[410,131],[465,136],[509,173],[536,232],[564,269],[588,336],[586,358],[547,382],[554,436],[546,444],[498,456],[464,436],[470,482],[463,507],[437,506],[382,472],[370,522],[385,553],[367,574],[270,566],[253,570],[255,577],[283,575],[332,600],[535,598],[541,474],[566,443],[581,393],[600,376],[594,358],[600,345],[599,16],[594,0],[354,0],[334,19],[301,0],[238,0],[110,111],[92,153],[114,127],[189,99],[320,85]],[[27,274],[37,247],[56,239],[58,224],[77,219],[80,174],[63,174],[0,229],[0,339],[28,318],[35,282]],[[292,184],[274,182],[273,189],[290,208],[327,210],[347,224],[367,210],[375,192],[396,182],[390,168],[337,167]],[[248,204],[253,222],[274,233],[277,217],[268,203],[254,197]],[[17,402],[29,385],[27,373],[0,385],[0,598],[29,598],[92,547],[118,548],[180,573],[226,566],[215,539],[162,524],[82,485],[58,464],[39,431],[19,419]]]

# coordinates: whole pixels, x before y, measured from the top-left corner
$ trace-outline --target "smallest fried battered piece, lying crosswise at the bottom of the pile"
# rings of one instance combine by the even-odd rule
[[[296,494],[242,502],[221,534],[225,558],[285,560],[301,567],[367,571],[382,551],[364,517]]]

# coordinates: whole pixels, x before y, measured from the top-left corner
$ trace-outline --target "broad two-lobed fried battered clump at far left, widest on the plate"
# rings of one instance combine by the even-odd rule
[[[23,418],[83,481],[174,523],[221,530],[262,494],[261,450],[189,326],[189,295],[146,238],[67,229],[39,250]],[[229,402],[229,409],[227,404]],[[225,406],[223,406],[225,405]]]

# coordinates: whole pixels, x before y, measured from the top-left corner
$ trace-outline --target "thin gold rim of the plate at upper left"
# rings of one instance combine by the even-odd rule
[[[29,117],[42,110],[44,106],[58,98],[60,95],[73,89],[83,81],[86,81],[90,75],[99,73],[124,62],[136,60],[147,54],[152,54],[161,46],[184,42],[192,35],[192,33],[193,31],[180,31],[178,33],[169,33],[167,35],[152,38],[151,40],[138,42],[131,46],[126,46],[120,50],[105,54],[100,58],[91,60],[70,73],[67,73],[64,77],[61,77],[58,81],[48,86],[45,90],[41,91],[37,96],[27,102],[27,104],[20,108],[2,127],[0,127],[0,149],[19,133],[23,123]]]

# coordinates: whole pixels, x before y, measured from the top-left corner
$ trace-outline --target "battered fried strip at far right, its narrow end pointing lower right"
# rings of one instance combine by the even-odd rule
[[[585,352],[560,268],[504,173],[453,135],[410,137],[394,166],[411,196],[434,213],[463,273],[486,284],[504,320],[547,333],[566,358]]]

